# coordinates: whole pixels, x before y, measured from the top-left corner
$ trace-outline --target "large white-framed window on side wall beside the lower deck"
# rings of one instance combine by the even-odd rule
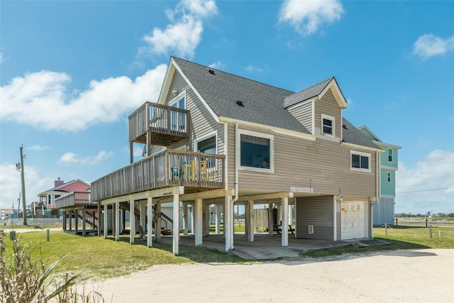
[[[240,166],[249,170],[273,170],[273,136],[242,131]]]

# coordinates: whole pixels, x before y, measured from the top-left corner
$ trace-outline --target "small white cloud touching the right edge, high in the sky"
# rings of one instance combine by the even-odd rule
[[[413,45],[414,55],[428,58],[454,51],[454,35],[448,38],[440,38],[436,35],[421,35]]]

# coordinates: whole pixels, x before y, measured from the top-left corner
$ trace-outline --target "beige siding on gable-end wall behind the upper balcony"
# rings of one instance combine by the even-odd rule
[[[170,92],[173,89],[177,89],[179,93],[186,92],[186,109],[190,111],[190,121],[189,121],[189,140],[187,144],[190,147],[190,150],[194,151],[194,140],[205,136],[208,133],[213,131],[218,131],[218,142],[217,142],[217,153],[220,155],[224,154],[224,134],[223,134],[223,124],[217,123],[214,120],[214,117],[211,116],[208,109],[204,106],[201,100],[196,96],[194,91],[189,87],[182,75],[179,72],[175,72],[175,75],[172,79],[172,84],[170,84]],[[174,98],[172,94],[169,94],[166,100],[166,104]]]

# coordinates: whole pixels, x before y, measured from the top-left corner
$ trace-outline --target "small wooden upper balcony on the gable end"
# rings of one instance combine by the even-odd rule
[[[129,142],[168,146],[189,138],[189,111],[145,102],[129,116]]]

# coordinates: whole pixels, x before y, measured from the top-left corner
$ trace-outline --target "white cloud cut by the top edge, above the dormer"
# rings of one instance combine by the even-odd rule
[[[279,22],[290,23],[301,35],[311,35],[319,31],[323,23],[341,19],[342,13],[343,6],[338,0],[288,0],[281,6]]]

